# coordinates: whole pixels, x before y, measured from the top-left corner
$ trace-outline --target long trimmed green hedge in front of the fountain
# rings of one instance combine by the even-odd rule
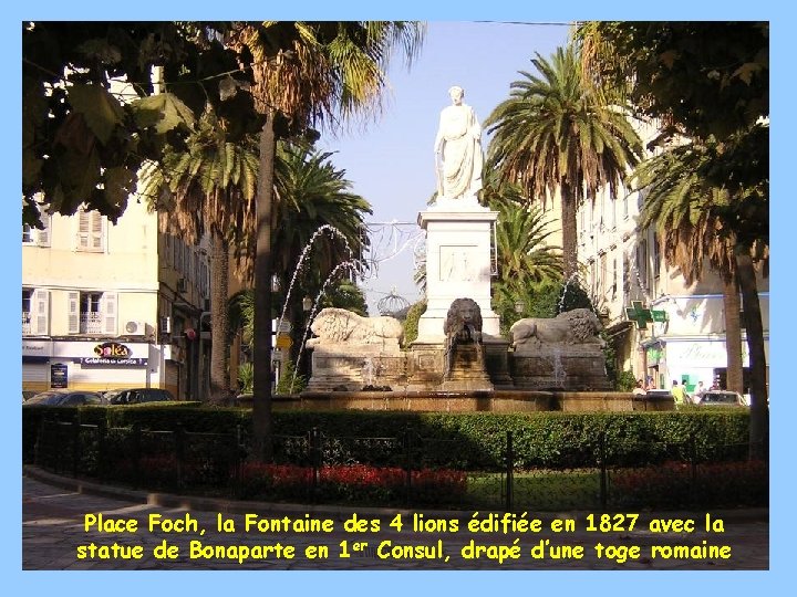
[[[249,442],[251,411],[207,408],[197,404],[131,407],[23,408],[23,458],[32,459],[39,421],[43,417],[108,428],[132,427],[229,433],[240,426]],[[743,458],[748,440],[746,409],[692,409],[675,412],[535,412],[442,413],[404,411],[280,411],[273,413],[277,443],[282,436],[307,437],[318,428],[325,464],[397,465],[411,440],[414,467],[499,470],[505,465],[507,431],[513,432],[516,468],[592,467],[601,454],[609,465],[643,465],[695,458],[722,461]],[[335,438],[334,440],[330,438]],[[355,438],[395,438],[381,444]],[[375,447],[376,446],[376,447]],[[301,446],[283,451],[297,454]],[[279,450],[276,450],[279,452]]]

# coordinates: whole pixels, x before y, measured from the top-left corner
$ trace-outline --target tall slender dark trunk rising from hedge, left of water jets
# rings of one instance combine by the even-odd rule
[[[272,454],[271,420],[271,205],[275,165],[273,115],[266,115],[260,132],[260,172],[257,197],[257,249],[255,256],[255,367],[252,400],[252,454],[269,461]]]

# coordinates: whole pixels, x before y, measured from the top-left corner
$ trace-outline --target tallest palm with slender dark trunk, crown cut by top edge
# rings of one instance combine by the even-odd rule
[[[228,43],[251,66],[252,96],[266,116],[260,134],[257,198],[253,454],[270,455],[271,437],[271,223],[276,124],[303,130],[319,122],[369,114],[380,106],[384,69],[401,46],[420,49],[423,27],[402,21],[241,23]]]

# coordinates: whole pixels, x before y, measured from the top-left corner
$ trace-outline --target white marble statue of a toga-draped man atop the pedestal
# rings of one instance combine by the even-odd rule
[[[474,109],[463,103],[465,91],[454,86],[448,94],[452,105],[441,112],[435,139],[437,195],[445,199],[475,198],[482,189],[482,127]]]

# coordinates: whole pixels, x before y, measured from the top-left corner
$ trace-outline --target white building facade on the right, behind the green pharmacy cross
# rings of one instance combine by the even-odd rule
[[[646,143],[653,129],[642,132]],[[723,283],[706,262],[702,280],[689,285],[669,268],[651,228],[641,229],[641,192],[611,198],[601,193],[578,212],[579,263],[584,285],[614,346],[619,370],[670,388],[673,380],[692,391],[725,386],[727,352]],[[769,362],[769,281],[757,275],[765,352]],[[628,310],[631,310],[630,312]],[[656,312],[648,321],[648,310]],[[640,322],[640,320],[642,322]],[[746,337],[743,366],[748,367]],[[746,373],[746,371],[745,371]],[[747,386],[745,385],[745,391]]]

